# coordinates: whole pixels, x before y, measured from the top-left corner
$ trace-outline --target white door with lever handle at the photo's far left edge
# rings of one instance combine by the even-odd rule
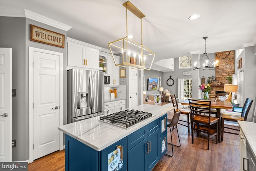
[[[12,49],[0,48],[0,162],[12,161]]]

